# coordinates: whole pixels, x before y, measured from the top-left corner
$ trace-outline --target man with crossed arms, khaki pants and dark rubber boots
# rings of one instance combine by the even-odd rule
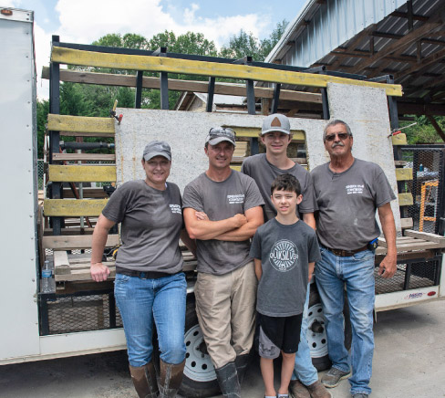
[[[209,131],[209,168],[183,194],[184,221],[196,239],[196,313],[224,397],[241,396],[254,340],[256,277],[250,238],[263,224],[263,198],[254,180],[230,168],[235,134]]]

